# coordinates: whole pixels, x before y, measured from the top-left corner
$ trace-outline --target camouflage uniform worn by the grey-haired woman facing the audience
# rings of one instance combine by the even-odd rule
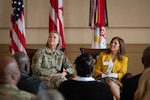
[[[33,76],[45,81],[48,87],[50,83],[57,83],[58,86],[62,81],[66,80],[65,77],[55,77],[52,79],[50,74],[56,74],[58,72],[66,71],[68,74],[73,74],[74,68],[67,56],[61,50],[52,52],[50,48],[44,47],[39,49],[32,59],[32,72]],[[59,82],[57,81],[59,79]],[[56,86],[56,87],[57,87]]]

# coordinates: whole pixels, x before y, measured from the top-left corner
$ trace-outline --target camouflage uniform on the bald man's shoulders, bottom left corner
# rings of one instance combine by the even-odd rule
[[[31,100],[35,95],[12,84],[0,84],[0,100]]]

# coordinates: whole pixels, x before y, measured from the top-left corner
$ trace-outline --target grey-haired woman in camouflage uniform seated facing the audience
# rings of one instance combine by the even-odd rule
[[[58,88],[67,80],[68,74],[73,74],[74,68],[67,56],[61,51],[61,37],[52,31],[45,47],[39,49],[32,59],[33,76],[43,80],[49,88]]]

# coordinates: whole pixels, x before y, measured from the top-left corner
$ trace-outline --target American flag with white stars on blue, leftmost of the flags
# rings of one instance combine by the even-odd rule
[[[9,51],[11,55],[17,51],[23,51],[26,53],[23,0],[12,0]]]

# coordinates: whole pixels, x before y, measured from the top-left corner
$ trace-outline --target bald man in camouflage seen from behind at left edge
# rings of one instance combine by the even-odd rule
[[[31,100],[34,94],[20,90],[17,83],[20,71],[16,60],[11,56],[0,58],[0,100]]]

